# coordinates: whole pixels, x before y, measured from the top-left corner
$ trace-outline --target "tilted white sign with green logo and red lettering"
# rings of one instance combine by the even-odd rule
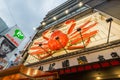
[[[22,33],[18,26],[14,26],[9,30],[5,37],[10,40],[16,47],[25,39],[25,35]]]

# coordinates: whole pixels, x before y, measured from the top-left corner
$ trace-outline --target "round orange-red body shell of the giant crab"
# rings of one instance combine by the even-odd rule
[[[60,30],[55,30],[48,40],[48,47],[50,50],[59,50],[67,45],[68,40],[66,34]]]

